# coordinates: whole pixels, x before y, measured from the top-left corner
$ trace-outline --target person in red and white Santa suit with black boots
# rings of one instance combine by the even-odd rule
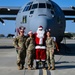
[[[42,61],[45,68],[46,47],[45,47],[45,31],[42,26],[39,26],[35,33],[35,53],[36,53],[36,68],[39,66],[39,61]]]

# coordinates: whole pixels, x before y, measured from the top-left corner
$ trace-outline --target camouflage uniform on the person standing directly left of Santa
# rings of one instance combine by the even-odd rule
[[[33,37],[29,37],[26,40],[26,48],[27,48],[27,64],[31,68],[33,67],[33,59],[34,59],[34,51],[35,51],[35,42]]]

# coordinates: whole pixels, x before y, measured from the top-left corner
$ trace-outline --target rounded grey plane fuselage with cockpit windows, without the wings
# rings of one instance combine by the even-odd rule
[[[44,30],[51,29],[51,36],[57,42],[63,39],[65,31],[65,17],[60,7],[51,0],[33,0],[24,5],[16,18],[16,27],[26,27],[26,34],[32,30],[36,32],[39,26]]]

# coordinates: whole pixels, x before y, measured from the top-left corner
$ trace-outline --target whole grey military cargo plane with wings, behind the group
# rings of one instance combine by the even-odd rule
[[[51,29],[51,35],[60,43],[64,36],[66,20],[74,20],[75,7],[60,8],[52,0],[31,0],[21,7],[0,7],[0,15],[17,15],[15,17],[0,17],[0,21],[16,20],[16,28],[24,26],[25,32],[36,32],[41,25],[44,30]]]

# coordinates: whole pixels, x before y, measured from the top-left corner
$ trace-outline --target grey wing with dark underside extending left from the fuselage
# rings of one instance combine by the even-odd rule
[[[4,23],[3,20],[16,20],[16,15],[20,7],[7,7],[0,6],[0,21]]]

